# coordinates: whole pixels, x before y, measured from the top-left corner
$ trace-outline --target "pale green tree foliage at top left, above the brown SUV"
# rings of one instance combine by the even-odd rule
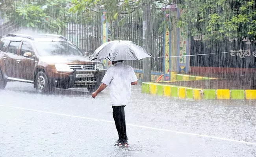
[[[4,0],[2,14],[23,28],[61,33],[69,20],[69,0]]]

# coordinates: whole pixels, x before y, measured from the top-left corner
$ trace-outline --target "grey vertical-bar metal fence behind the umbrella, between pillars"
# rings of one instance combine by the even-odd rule
[[[83,18],[79,15],[72,16],[73,19],[82,19],[80,22],[72,20],[67,24],[65,36],[68,40],[72,41],[76,46],[80,47],[82,51],[89,52],[90,54],[95,51],[97,47],[102,44],[102,15],[98,14],[93,22],[82,24]],[[130,40],[143,46],[143,19],[138,18],[133,14],[122,15],[125,21],[122,25],[118,25],[118,21],[111,22],[111,40]],[[119,19],[120,20],[120,19]],[[153,19],[151,19],[153,21]],[[154,57],[163,56],[163,33],[160,32],[156,22],[152,22],[150,53]],[[152,70],[163,71],[163,59],[152,59]],[[128,61],[133,68],[143,69],[143,60]]]

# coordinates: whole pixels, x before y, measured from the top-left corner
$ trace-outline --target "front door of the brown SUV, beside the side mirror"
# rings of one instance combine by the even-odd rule
[[[35,70],[35,58],[31,56],[24,56],[24,53],[32,53],[32,56],[35,54],[33,51],[32,44],[27,41],[23,41],[20,47],[20,64],[19,64],[19,79],[33,81],[33,72]]]

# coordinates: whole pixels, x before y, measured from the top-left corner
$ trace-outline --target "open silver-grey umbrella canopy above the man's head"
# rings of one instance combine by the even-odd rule
[[[146,57],[153,56],[132,41],[115,40],[102,44],[90,58],[91,60],[107,59],[112,62],[117,60],[141,60]]]

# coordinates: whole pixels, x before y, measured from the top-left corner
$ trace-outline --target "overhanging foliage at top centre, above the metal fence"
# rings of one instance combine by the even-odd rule
[[[142,8],[147,4],[151,5],[152,10],[160,13],[161,7],[171,4],[170,1],[172,0],[72,0],[70,11],[90,16],[93,13],[101,14],[102,10],[106,10],[108,21],[122,17],[119,18],[119,24],[123,24],[123,20],[128,14],[134,14],[135,18],[142,18]]]

